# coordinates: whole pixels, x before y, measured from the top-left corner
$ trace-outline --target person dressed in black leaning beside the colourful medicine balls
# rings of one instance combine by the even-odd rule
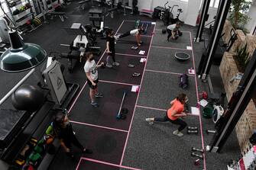
[[[92,150],[85,149],[79,140],[77,140],[75,134],[73,133],[73,128],[71,126],[70,120],[66,114],[63,114],[62,111],[58,111],[53,119],[53,130],[60,140],[60,146],[63,147],[67,156],[73,158],[73,154],[71,152],[71,144],[81,149],[81,152],[92,154]]]

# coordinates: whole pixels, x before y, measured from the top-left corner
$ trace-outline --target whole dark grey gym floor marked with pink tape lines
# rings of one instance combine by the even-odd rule
[[[73,22],[79,22],[82,24],[89,24],[88,10],[79,11],[77,3],[73,2],[70,6],[67,6],[66,11],[69,17],[64,22],[55,18],[50,21],[50,24],[44,24],[42,27],[33,31],[31,34],[24,36],[26,42],[37,43],[41,45],[47,52],[57,51],[59,53],[67,52],[67,47],[61,47],[60,43],[69,44],[73,40],[73,36],[69,36],[62,29],[63,27],[70,27]],[[115,14],[115,19],[105,18],[105,24],[112,27],[114,30],[118,30],[118,27],[124,20],[125,24],[121,27],[118,33],[124,33],[128,28],[133,27],[134,21],[141,19],[141,21],[151,21],[150,18],[127,15]],[[184,120],[191,127],[200,127],[203,129],[201,134],[187,135],[186,130],[184,136],[178,138],[173,136],[173,130],[177,128],[176,125],[171,123],[155,123],[153,126],[148,125],[144,119],[146,117],[163,116],[165,110],[169,107],[170,100],[172,100],[178,93],[185,92],[190,98],[190,106],[195,106],[196,97],[196,81],[198,85],[197,91],[208,91],[206,83],[195,79],[194,75],[190,75],[190,87],[187,90],[183,90],[178,85],[178,79],[180,73],[184,73],[187,69],[193,67],[193,56],[196,67],[199,64],[199,59],[203,53],[203,43],[193,43],[193,50],[187,50],[187,47],[191,47],[191,37],[195,36],[196,27],[190,27],[184,25],[183,36],[177,41],[170,40],[167,42],[167,35],[161,33],[161,29],[164,28],[164,24],[157,21],[156,30],[153,34],[153,42],[150,45],[151,34],[143,37],[145,50],[149,50],[147,58],[146,70],[140,64],[138,64],[138,72],[143,73],[144,76],[141,82],[140,79],[132,79],[131,72],[128,67],[121,66],[118,68],[116,75],[113,75],[112,70],[99,70],[100,79],[109,82],[100,82],[100,88],[104,90],[105,98],[99,99],[102,104],[99,109],[93,110],[88,104],[88,85],[85,86],[76,104],[73,106],[71,112],[71,120],[79,121],[79,123],[73,123],[73,128],[76,134],[85,146],[93,149],[92,156],[82,155],[76,149],[76,159],[70,160],[66,158],[63,150],[60,149],[57,152],[56,159],[50,165],[49,169],[203,169],[206,166],[207,169],[226,169],[226,165],[230,159],[237,159],[239,156],[239,146],[235,133],[232,133],[222,153],[209,153],[206,152],[205,162],[200,161],[199,166],[193,165],[193,161],[196,158],[190,156],[191,147],[202,148],[209,144],[212,139],[212,135],[207,136],[205,130],[212,129],[214,124],[212,120],[207,120],[199,116],[188,116]],[[190,37],[191,33],[191,37]],[[207,36],[207,35],[204,35]],[[129,37],[125,40],[131,40]],[[99,47],[105,49],[105,40],[98,40]],[[118,43],[117,53],[134,54],[138,53],[131,51],[130,47],[133,43]],[[173,53],[177,51],[184,51],[189,53],[191,58],[185,63],[180,63],[176,59],[173,59]],[[146,51],[148,52],[148,51]],[[102,59],[105,56],[103,56]],[[117,59],[126,65],[127,63],[137,63],[137,56],[124,56],[117,55]],[[97,57],[99,60],[100,57]],[[139,57],[138,57],[139,58]],[[61,59],[61,63],[66,66],[66,59]],[[135,67],[136,68],[136,67]],[[137,71],[137,70],[136,70]],[[124,75],[119,72],[124,72]],[[127,73],[125,75],[125,73]],[[141,74],[142,75],[142,74]],[[11,74],[0,71],[2,81],[0,81],[1,87],[5,89],[1,90],[1,95],[5,95],[11,87],[13,87],[24,73]],[[219,76],[218,66],[212,66],[211,77],[213,79],[212,84],[215,91],[222,91],[223,85]],[[86,75],[83,72],[83,65],[76,65],[73,73],[70,74],[65,70],[65,78],[69,82],[79,83],[83,88],[86,82]],[[132,94],[128,97],[128,102],[125,107],[129,107],[129,114],[127,120],[123,122],[117,122],[115,120],[115,114],[117,107],[111,107],[119,104],[120,98],[122,98],[122,91],[131,90],[129,85],[113,84],[111,82],[122,82],[139,85],[141,83],[141,92],[138,95],[138,102],[136,107],[136,94]],[[11,103],[5,105],[10,107]],[[3,106],[2,106],[3,107]],[[134,117],[132,112],[134,111]],[[108,112],[107,112],[108,111]],[[108,115],[111,115],[109,118]],[[114,115],[114,117],[112,117]],[[201,123],[202,124],[201,124]],[[131,129],[129,125],[131,123]],[[99,126],[99,127],[96,127]],[[106,128],[105,128],[106,127]],[[112,128],[112,130],[108,129]],[[113,130],[116,129],[116,130]],[[125,131],[122,131],[125,130]],[[128,130],[130,133],[128,133]],[[128,142],[125,145],[126,135],[128,134]],[[202,136],[203,141],[202,143]],[[123,149],[125,148],[124,157],[122,159]],[[121,162],[121,164],[120,164]]]

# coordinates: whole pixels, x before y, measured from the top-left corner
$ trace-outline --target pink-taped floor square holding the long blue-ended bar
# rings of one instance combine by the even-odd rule
[[[138,94],[131,92],[131,86],[129,85],[105,82],[99,83],[99,91],[102,92],[104,97],[97,99],[99,107],[92,107],[89,99],[89,87],[86,85],[70,112],[70,119],[82,123],[128,130]],[[116,120],[115,117],[122,102],[123,91],[127,91],[123,107],[128,108],[129,112],[126,114],[127,118],[125,120]]]

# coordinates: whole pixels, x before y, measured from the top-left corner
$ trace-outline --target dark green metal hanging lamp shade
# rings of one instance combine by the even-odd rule
[[[39,45],[23,43],[16,31],[9,31],[11,48],[0,58],[0,69],[5,72],[23,72],[40,65],[47,53]]]

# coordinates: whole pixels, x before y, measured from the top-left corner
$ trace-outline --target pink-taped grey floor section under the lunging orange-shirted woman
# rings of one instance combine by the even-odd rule
[[[145,122],[146,117],[164,116],[163,111],[153,111],[136,107],[128,145],[125,151],[123,165],[147,170],[161,169],[202,169],[193,165],[196,158],[190,156],[191,147],[201,148],[199,135],[183,137],[173,135],[177,125],[172,123]],[[188,125],[199,127],[198,117],[190,116],[184,119]]]

